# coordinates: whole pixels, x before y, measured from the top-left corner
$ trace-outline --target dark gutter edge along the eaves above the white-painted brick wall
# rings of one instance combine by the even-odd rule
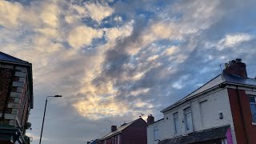
[[[217,77],[216,77],[216,78],[217,78]],[[208,83],[208,82],[207,82],[207,83]],[[211,90],[218,89],[220,86],[223,86],[223,85],[226,85],[226,84],[234,85],[234,86],[245,86],[245,87],[250,86],[250,87],[255,87],[255,88],[256,88],[256,86],[254,86],[254,85],[245,85],[245,84],[234,83],[234,82],[222,82],[222,83],[218,84],[217,86],[213,86],[213,87],[211,87],[210,89],[203,90],[201,93],[194,94],[194,95],[192,95],[191,97],[186,98],[187,96],[189,96],[190,94],[192,94],[192,93],[195,91],[195,90],[194,90],[192,93],[188,94],[185,98],[182,98],[182,99],[179,100],[178,102],[175,102],[173,105],[168,106],[166,109],[161,110],[160,112],[161,112],[161,113],[164,113],[164,112],[166,112],[167,110],[171,110],[171,109],[173,109],[174,107],[180,106],[182,103],[187,102],[187,101],[189,101],[190,99],[193,99],[193,98],[195,98],[195,97],[198,97],[198,95],[205,94],[205,93],[207,93],[207,92],[209,92],[209,91],[211,91]],[[198,90],[198,89],[197,89],[197,90]]]

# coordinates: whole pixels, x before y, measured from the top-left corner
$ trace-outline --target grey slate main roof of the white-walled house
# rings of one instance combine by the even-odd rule
[[[235,74],[218,74],[217,77],[211,79],[209,82],[206,82],[203,86],[199,87],[197,90],[194,90],[192,93],[186,95],[186,97],[182,98],[178,102],[175,102],[173,105],[166,107],[166,109],[161,110],[161,112],[165,112],[167,110],[172,109],[174,106],[178,106],[183,102],[194,98],[194,96],[198,94],[202,94],[204,91],[209,90],[211,88],[221,86],[222,84],[230,83],[234,85],[244,85],[244,86],[256,86],[256,78],[242,78]]]

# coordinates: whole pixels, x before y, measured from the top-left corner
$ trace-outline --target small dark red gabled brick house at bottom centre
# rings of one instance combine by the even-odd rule
[[[100,138],[98,144],[146,144],[146,122],[138,118],[122,126],[111,126],[111,132]]]

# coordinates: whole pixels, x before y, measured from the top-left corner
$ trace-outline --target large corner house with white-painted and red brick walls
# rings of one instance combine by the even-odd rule
[[[255,144],[256,79],[241,59],[226,63],[222,74],[148,117],[148,144]]]

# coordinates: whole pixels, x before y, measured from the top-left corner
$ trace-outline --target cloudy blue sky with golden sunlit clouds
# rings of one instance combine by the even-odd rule
[[[256,77],[254,0],[0,0],[0,50],[33,64],[38,143],[101,138],[163,110],[235,58]]]

